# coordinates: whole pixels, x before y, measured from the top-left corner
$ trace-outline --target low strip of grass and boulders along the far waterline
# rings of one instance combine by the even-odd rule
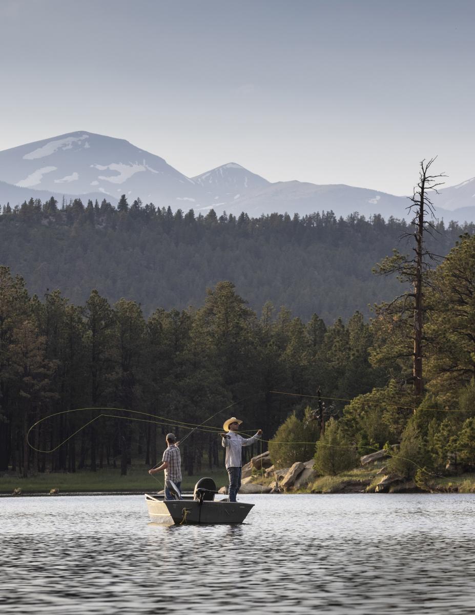
[[[268,451],[253,457],[242,467],[241,498],[246,494],[344,494],[344,493],[475,493],[475,473],[430,475],[423,482],[392,474],[388,469],[387,451],[362,456],[358,467],[337,475],[319,475],[314,459],[295,462],[290,468],[276,469]],[[220,493],[227,493],[228,474],[225,469],[203,470],[193,476],[183,475],[182,490],[193,491],[199,478],[214,479]],[[164,487],[163,476],[154,480],[145,466],[130,467],[126,476],[120,469],[69,472],[47,472],[22,479],[14,472],[0,478],[0,497],[39,495],[130,495],[156,493]]]

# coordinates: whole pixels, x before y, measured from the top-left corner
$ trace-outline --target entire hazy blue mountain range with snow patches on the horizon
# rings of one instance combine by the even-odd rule
[[[0,152],[0,203],[16,205],[31,196],[59,202],[81,199],[115,202],[126,194],[159,207],[188,210],[214,208],[239,216],[261,213],[305,215],[333,210],[337,216],[353,212],[369,217],[409,218],[408,200],[385,192],[344,184],[316,185],[301,181],[271,183],[236,162],[228,162],[193,178],[163,158],[123,139],[86,130],[58,135]],[[475,221],[475,178],[434,195],[437,216]]]

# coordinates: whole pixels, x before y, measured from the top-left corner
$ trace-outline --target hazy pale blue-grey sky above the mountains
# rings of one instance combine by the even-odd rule
[[[0,0],[0,149],[89,130],[192,177],[475,175],[472,0]]]

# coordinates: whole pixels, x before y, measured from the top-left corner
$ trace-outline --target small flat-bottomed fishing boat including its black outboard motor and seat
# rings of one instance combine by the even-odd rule
[[[148,515],[152,523],[161,525],[196,525],[204,523],[242,523],[253,504],[230,502],[228,498],[215,499],[218,493],[212,478],[200,478],[193,493],[181,494],[177,486],[166,480],[173,499],[162,494],[145,494]]]

